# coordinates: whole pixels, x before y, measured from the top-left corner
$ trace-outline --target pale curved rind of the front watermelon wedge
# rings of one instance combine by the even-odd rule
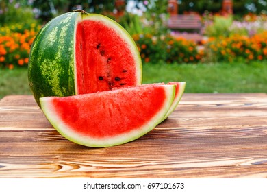
[[[153,130],[153,128],[155,128],[159,123],[162,122],[162,119],[166,115],[166,112],[168,112],[171,104],[173,104],[173,99],[175,97],[174,85],[162,85],[162,86],[164,87],[164,91],[166,93],[164,104],[162,105],[162,108],[157,110],[157,113],[150,119],[149,122],[144,123],[137,130],[132,130],[131,132],[127,132],[125,134],[119,134],[117,136],[111,136],[111,137],[106,136],[105,138],[99,138],[99,139],[90,136],[82,136],[81,134],[77,134],[77,132],[73,132],[72,128],[68,127],[68,125],[64,123],[66,119],[61,119],[56,112],[57,110],[55,106],[53,106],[53,99],[57,98],[42,97],[40,98],[40,104],[42,106],[44,115],[46,115],[47,119],[50,121],[53,127],[69,141],[73,141],[74,143],[77,143],[79,145],[85,145],[88,147],[111,147],[114,145],[120,145],[123,143],[127,143],[129,141],[136,140],[140,138],[140,136],[143,136],[144,134],[147,134],[148,132]],[[142,88],[142,86],[140,86],[140,88]],[[115,91],[107,91],[106,93],[110,94],[116,91],[123,91],[123,89],[118,89]],[[90,95],[93,94],[95,93],[88,94],[88,96],[90,97]],[[81,99],[84,99],[84,97],[86,97],[86,94],[81,95],[81,97],[82,97]],[[77,113],[79,114],[79,112]],[[84,118],[86,118],[85,115]],[[99,121],[101,121],[101,119],[99,119]]]

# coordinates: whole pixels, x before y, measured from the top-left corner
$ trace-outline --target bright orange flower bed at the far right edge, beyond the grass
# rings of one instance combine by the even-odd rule
[[[248,37],[209,38],[205,45],[208,62],[250,62],[267,59],[267,32]]]

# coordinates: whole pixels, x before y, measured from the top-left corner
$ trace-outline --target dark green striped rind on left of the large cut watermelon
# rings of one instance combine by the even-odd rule
[[[79,13],[51,20],[37,34],[29,55],[29,86],[40,106],[40,97],[75,95],[74,27]]]

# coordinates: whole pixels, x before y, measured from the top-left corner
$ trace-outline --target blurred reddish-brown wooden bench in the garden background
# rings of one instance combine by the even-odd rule
[[[177,14],[170,16],[168,29],[200,32],[201,18],[197,14]]]

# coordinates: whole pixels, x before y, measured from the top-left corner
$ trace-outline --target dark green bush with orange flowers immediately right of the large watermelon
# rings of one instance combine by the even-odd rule
[[[143,62],[199,62],[203,56],[196,43],[184,38],[139,34],[133,35],[133,40],[136,41]]]

